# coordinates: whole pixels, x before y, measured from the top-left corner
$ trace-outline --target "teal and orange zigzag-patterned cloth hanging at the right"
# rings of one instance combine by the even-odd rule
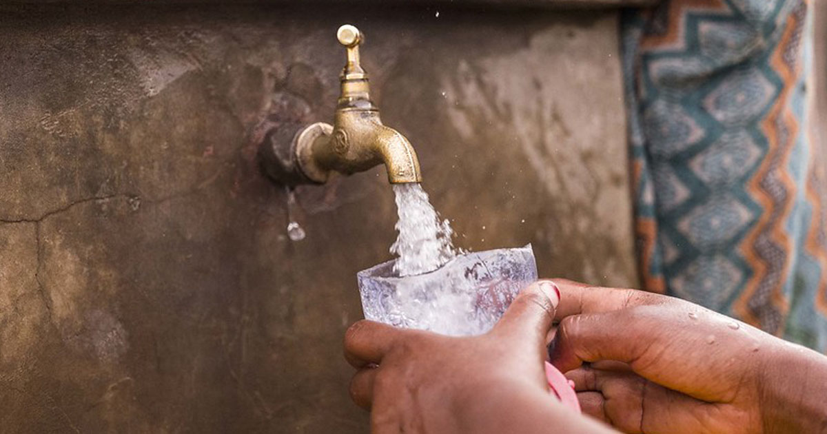
[[[622,45],[645,289],[827,350],[825,161],[806,0],[670,0]]]

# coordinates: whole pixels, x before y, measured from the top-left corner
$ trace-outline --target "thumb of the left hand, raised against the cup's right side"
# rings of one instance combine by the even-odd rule
[[[536,339],[545,345],[559,303],[560,289],[557,284],[551,280],[535,282],[514,298],[493,331],[519,340]]]

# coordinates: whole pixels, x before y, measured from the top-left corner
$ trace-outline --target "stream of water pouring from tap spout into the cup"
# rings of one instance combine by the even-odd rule
[[[411,276],[438,269],[457,256],[451,241],[453,230],[447,220],[440,220],[419,184],[394,184],[399,236],[390,253],[399,256],[394,273]]]

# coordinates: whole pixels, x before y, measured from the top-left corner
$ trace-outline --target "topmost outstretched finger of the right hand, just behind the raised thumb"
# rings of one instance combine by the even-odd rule
[[[675,303],[676,298],[637,289],[616,289],[588,286],[566,279],[555,279],[560,289],[560,304],[555,319],[581,313],[611,312],[648,304]]]

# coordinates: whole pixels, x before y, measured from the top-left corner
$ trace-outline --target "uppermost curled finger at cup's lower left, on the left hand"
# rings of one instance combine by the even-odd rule
[[[345,359],[356,369],[369,363],[379,364],[394,341],[406,330],[381,322],[361,320],[345,331]]]

